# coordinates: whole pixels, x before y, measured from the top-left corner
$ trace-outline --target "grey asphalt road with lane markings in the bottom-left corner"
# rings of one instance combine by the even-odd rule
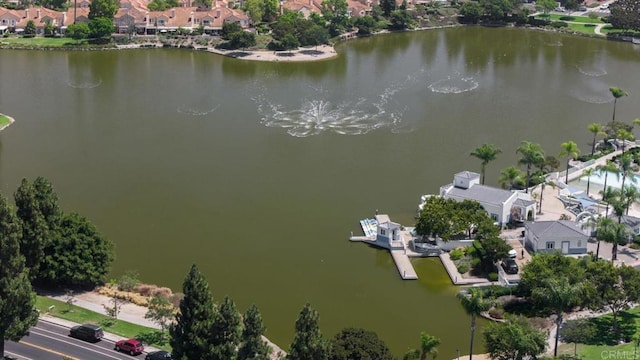
[[[69,337],[68,328],[40,321],[19,343],[5,342],[5,355],[24,360],[61,360],[64,356],[74,360],[144,359],[144,354],[134,357],[118,353],[113,345],[108,340],[94,344],[74,339]]]

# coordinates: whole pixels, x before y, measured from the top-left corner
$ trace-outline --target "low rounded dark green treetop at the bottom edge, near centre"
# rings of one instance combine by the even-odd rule
[[[373,331],[342,329],[331,339],[329,360],[393,360],[387,345]]]

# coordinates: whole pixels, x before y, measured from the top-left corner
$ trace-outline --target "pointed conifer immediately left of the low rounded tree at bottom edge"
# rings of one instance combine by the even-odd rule
[[[306,304],[296,320],[296,334],[291,343],[288,360],[327,360],[329,348],[322,338],[318,312]]]

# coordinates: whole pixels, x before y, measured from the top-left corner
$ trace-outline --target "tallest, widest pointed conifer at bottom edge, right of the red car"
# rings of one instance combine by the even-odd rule
[[[182,284],[184,298],[176,321],[169,327],[173,358],[178,360],[215,359],[210,344],[216,307],[209,284],[194,264]]]

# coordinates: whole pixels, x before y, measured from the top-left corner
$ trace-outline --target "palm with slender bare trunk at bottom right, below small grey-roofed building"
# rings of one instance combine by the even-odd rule
[[[544,281],[544,286],[533,289],[532,297],[547,305],[556,314],[556,343],[553,356],[558,356],[558,339],[562,314],[575,305],[582,293],[581,284],[570,284],[566,277],[549,278]]]

